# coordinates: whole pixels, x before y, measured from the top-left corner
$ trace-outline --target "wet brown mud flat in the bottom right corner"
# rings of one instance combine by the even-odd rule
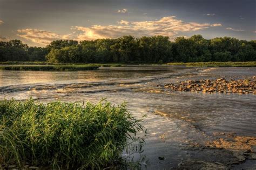
[[[154,113],[162,117],[178,118],[162,111]],[[186,153],[186,159],[181,159],[178,167],[172,169],[240,169],[246,168],[248,164],[256,168],[256,137],[227,132],[208,134],[194,126],[192,121],[183,117],[178,119],[184,120],[191,130],[196,130],[201,141],[192,138],[181,140],[185,145],[180,149]],[[160,135],[159,138],[170,140],[168,134]]]

